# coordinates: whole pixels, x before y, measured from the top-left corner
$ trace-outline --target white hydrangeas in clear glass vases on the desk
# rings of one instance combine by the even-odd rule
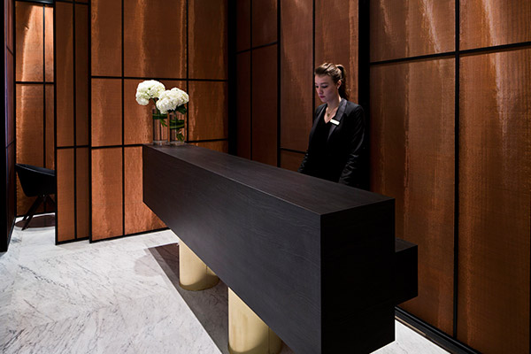
[[[181,129],[184,127],[184,119],[177,119],[176,113],[185,114],[187,109],[184,104],[188,104],[189,96],[181,89],[165,89],[164,84],[159,81],[142,81],[136,88],[136,102],[147,105],[153,100],[155,109],[153,111],[153,142],[161,144],[164,130],[160,127],[167,127],[165,119],[170,114],[170,141],[184,142],[184,135]]]

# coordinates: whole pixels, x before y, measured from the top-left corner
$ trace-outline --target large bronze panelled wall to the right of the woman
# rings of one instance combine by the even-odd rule
[[[531,4],[457,4],[370,3],[371,185],[419,245],[401,307],[475,350],[529,352]]]

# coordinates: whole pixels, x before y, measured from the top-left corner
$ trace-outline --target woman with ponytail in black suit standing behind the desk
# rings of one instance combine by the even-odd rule
[[[356,188],[365,188],[365,115],[346,89],[342,65],[325,63],[315,69],[315,89],[323,104],[317,107],[310,142],[300,173]]]

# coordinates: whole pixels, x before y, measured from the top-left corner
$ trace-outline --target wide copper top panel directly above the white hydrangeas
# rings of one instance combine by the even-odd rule
[[[126,76],[186,77],[186,13],[185,0],[128,2],[124,7]]]

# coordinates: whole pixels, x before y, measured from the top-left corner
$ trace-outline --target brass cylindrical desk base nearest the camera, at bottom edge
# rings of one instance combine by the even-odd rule
[[[228,289],[228,351],[231,354],[277,354],[281,349],[281,338]]]

